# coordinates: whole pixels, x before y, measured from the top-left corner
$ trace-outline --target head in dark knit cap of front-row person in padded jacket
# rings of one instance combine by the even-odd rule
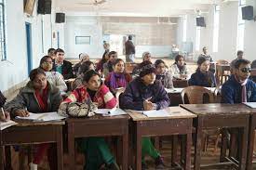
[[[140,64],[140,77],[144,85],[153,85],[155,82],[155,65],[145,60]]]

